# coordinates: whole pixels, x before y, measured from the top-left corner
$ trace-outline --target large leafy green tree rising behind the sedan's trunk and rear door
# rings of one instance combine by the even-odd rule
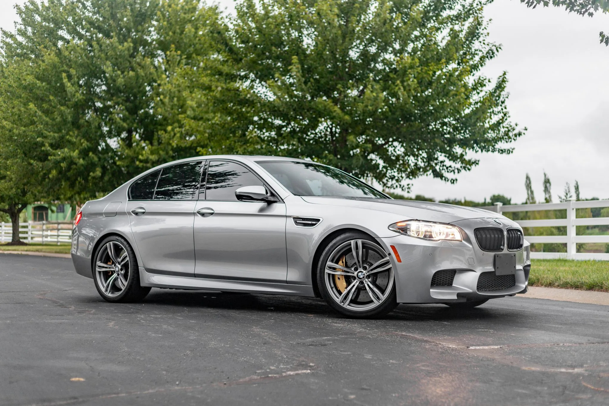
[[[197,100],[180,80],[191,66],[200,68],[194,84],[205,82],[201,59],[222,46],[209,35],[224,38],[215,7],[29,0],[16,9],[16,32],[2,31],[2,64],[29,63],[47,91],[25,101],[46,117],[50,197],[96,198],[144,169],[196,153],[193,139],[203,138],[183,131],[183,115]]]

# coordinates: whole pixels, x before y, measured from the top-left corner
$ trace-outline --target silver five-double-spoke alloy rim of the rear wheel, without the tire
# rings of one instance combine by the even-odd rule
[[[99,250],[95,261],[97,284],[104,295],[116,297],[127,287],[129,255],[123,245],[110,241]]]

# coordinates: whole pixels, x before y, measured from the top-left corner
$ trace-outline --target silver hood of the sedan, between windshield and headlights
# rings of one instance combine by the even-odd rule
[[[331,205],[385,211],[404,216],[404,220],[417,219],[431,222],[452,223],[465,219],[498,219],[501,214],[485,209],[446,205],[431,201],[379,199],[367,197],[319,197],[301,196],[315,205]]]

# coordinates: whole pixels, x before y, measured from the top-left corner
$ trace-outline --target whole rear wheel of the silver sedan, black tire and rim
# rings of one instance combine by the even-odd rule
[[[94,258],[93,281],[106,301],[138,302],[150,292],[150,287],[139,285],[138,261],[124,238],[107,237],[100,243]]]

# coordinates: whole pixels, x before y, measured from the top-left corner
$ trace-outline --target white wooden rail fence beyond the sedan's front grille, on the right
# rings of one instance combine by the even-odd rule
[[[566,253],[540,253],[532,252],[531,257],[537,259],[598,259],[609,261],[609,254],[605,253],[578,253],[577,243],[609,243],[609,235],[599,236],[578,236],[576,226],[600,226],[609,225],[609,217],[576,217],[576,209],[586,208],[605,208],[609,207],[609,200],[567,200],[564,203],[538,203],[535,205],[502,205],[495,203],[495,206],[487,206],[482,209],[498,212],[518,211],[545,211],[545,210],[565,210],[566,219],[547,219],[547,220],[516,220],[521,227],[566,227],[566,236],[524,236],[530,243],[566,243]]]

